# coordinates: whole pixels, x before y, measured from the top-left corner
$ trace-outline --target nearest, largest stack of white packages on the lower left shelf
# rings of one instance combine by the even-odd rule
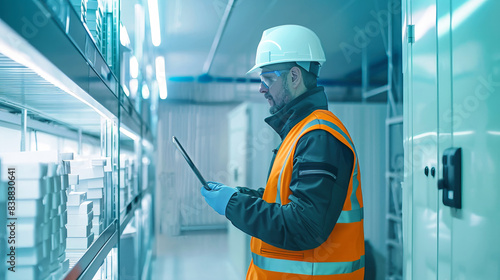
[[[17,218],[16,272],[7,271],[6,279],[60,279],[69,268],[65,254],[68,184],[62,160],[72,154],[19,152],[0,158],[2,184],[9,180],[8,168],[15,168],[11,174],[16,186],[12,216]]]

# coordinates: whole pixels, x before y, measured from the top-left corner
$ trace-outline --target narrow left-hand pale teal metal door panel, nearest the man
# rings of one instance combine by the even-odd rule
[[[437,279],[440,205],[436,176],[432,176],[438,159],[436,2],[409,0],[403,7],[407,25],[414,26],[405,28],[410,38],[404,98],[410,153],[403,186],[405,237],[410,239],[405,241],[405,278]]]

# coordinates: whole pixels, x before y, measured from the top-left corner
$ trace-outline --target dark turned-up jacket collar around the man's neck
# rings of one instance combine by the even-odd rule
[[[310,89],[290,101],[276,114],[267,117],[265,121],[283,140],[296,124],[315,110],[328,110],[328,100],[323,87]]]

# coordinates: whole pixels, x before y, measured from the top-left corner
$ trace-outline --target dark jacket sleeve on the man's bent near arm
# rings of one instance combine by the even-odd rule
[[[227,205],[226,217],[243,232],[273,246],[308,250],[325,242],[335,227],[354,155],[330,133],[314,130],[301,137],[293,160],[290,203],[268,203],[238,192]]]

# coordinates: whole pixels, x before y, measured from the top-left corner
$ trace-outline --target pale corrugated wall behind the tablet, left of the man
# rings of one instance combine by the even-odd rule
[[[200,194],[201,184],[175,149],[176,136],[207,181],[228,182],[227,113],[234,105],[169,104],[159,107],[156,225],[160,234],[181,227],[226,225]]]

